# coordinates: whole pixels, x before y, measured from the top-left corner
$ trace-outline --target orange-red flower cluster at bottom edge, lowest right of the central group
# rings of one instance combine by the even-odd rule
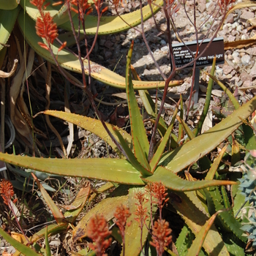
[[[165,251],[165,246],[168,246],[172,241],[172,236],[169,236],[172,230],[169,228],[169,223],[165,219],[158,219],[152,227],[152,240],[150,244],[157,250],[157,255],[162,255]]]

